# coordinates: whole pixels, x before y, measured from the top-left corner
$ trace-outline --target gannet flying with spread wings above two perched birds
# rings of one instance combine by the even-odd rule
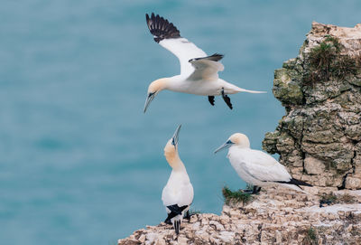
[[[238,92],[263,93],[241,89],[226,80],[219,79],[218,71],[224,70],[223,64],[219,62],[223,58],[222,54],[215,53],[207,56],[206,52],[199,49],[193,42],[181,37],[177,27],[158,14],[152,13],[151,17],[145,14],[145,17],[148,28],[154,36],[154,41],[172,52],[180,60],[180,75],[154,80],[149,85],[144,112],[154,97],[162,90],[208,96],[208,101],[212,106],[215,102],[214,97],[221,95],[231,109],[231,99],[227,94]]]

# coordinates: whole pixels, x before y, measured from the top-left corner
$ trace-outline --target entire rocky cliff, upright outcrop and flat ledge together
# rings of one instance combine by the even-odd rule
[[[264,150],[316,187],[268,188],[221,215],[195,214],[179,236],[161,223],[134,231],[134,244],[361,244],[361,24],[313,23],[297,58],[274,72],[286,115]]]

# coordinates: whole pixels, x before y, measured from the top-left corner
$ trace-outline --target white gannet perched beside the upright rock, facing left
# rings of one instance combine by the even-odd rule
[[[215,154],[226,148],[229,148],[227,157],[236,173],[246,183],[254,185],[252,193],[258,193],[262,186],[270,184],[281,184],[301,192],[300,185],[312,186],[292,178],[286,167],[271,155],[251,149],[249,139],[244,134],[233,134],[224,145],[218,147]]]

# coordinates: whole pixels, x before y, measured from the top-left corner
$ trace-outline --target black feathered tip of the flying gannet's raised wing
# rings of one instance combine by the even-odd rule
[[[149,31],[154,36],[155,42],[161,42],[163,39],[168,38],[180,38],[180,31],[174,24],[168,22],[159,14],[154,15],[152,13],[151,17],[148,14],[145,14],[146,22],[148,24]]]

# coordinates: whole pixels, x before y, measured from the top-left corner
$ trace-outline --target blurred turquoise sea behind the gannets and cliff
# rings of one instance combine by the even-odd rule
[[[222,99],[148,84],[180,71],[153,42],[145,13],[161,14],[208,54],[224,80],[267,94]],[[284,109],[273,71],[296,57],[313,20],[354,26],[360,1],[3,0],[0,7],[0,244],[116,244],[165,218],[175,128],[194,186],[193,209],[219,213],[221,188],[245,187],[213,150],[235,132],[260,149]]]

